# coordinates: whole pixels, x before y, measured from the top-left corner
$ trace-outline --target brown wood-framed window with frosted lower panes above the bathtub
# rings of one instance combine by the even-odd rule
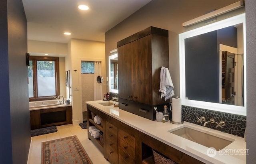
[[[60,94],[58,57],[30,56],[28,91],[31,101],[52,99]]]

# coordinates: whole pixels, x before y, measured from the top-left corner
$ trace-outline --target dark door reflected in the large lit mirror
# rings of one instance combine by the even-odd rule
[[[225,92],[225,104],[234,105],[234,67],[235,67],[235,55],[228,51],[224,51],[222,56],[225,61],[225,73],[224,73],[224,92]]]

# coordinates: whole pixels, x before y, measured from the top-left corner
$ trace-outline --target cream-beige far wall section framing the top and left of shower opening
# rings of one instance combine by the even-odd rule
[[[83,122],[82,118],[82,76],[81,61],[101,61],[102,76],[106,79],[105,64],[105,44],[104,42],[86,41],[71,39],[68,43],[68,55],[66,56],[66,70],[70,70],[71,101],[73,124]],[[77,70],[77,71],[74,71]],[[79,91],[74,91],[74,87],[79,87]],[[106,86],[102,87],[102,92],[106,92]]]

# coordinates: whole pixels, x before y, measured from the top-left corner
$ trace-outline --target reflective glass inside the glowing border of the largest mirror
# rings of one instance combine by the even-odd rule
[[[186,99],[243,106],[243,26],[185,39]]]

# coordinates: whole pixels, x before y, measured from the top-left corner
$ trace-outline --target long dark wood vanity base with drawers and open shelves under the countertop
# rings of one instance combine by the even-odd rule
[[[99,115],[102,118],[102,124],[94,123],[93,115]],[[88,127],[96,126],[102,130],[103,144],[99,138],[93,138],[89,131],[88,138],[92,140],[95,146],[104,154],[104,158],[109,160],[111,164],[154,163],[152,148],[180,164],[202,163],[88,104],[87,123]]]

